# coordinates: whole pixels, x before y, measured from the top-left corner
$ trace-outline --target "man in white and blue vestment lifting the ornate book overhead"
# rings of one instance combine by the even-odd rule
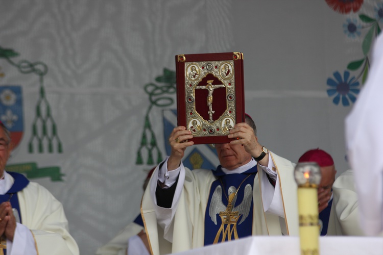
[[[183,166],[193,136],[184,126],[170,135],[170,157],[155,169],[141,213],[152,254],[167,254],[251,235],[298,236],[295,164],[258,143],[250,116],[216,144],[215,170]]]

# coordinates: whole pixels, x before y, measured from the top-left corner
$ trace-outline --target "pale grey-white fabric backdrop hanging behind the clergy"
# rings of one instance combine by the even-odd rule
[[[81,254],[94,254],[139,213],[142,182],[154,166],[145,164],[146,155],[136,165],[150,106],[143,87],[164,68],[175,71],[177,54],[243,52],[246,112],[260,143],[293,162],[320,147],[333,156],[338,174],[348,169],[343,122],[350,106],[332,103],[326,81],[363,58],[366,31],[351,38],[343,24],[361,13],[373,17],[382,1],[364,1],[349,14],[305,0],[0,5],[0,46],[19,53],[15,62],[48,67],[43,86],[63,146],[63,153],[29,152],[40,82],[0,58],[0,85],[23,91],[24,134],[9,163],[57,166],[65,174],[62,182],[32,181],[63,203]],[[149,117],[164,157],[162,110],[153,107]]]

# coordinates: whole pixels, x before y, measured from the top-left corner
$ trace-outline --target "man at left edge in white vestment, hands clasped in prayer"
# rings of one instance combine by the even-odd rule
[[[24,175],[5,171],[12,142],[0,122],[0,254],[77,255],[61,203]]]

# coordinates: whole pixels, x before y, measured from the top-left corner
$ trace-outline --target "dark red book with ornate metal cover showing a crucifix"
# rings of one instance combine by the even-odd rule
[[[195,144],[230,142],[230,129],[245,121],[243,54],[177,55],[176,75],[178,125]]]

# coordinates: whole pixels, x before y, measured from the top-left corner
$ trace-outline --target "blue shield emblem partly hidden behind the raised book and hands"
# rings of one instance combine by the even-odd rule
[[[166,155],[170,155],[169,136],[174,127],[177,126],[177,110],[163,110],[162,119]],[[196,144],[186,148],[182,163],[185,167],[192,170],[198,168],[216,169],[220,161],[218,160],[216,149],[211,144]]]

